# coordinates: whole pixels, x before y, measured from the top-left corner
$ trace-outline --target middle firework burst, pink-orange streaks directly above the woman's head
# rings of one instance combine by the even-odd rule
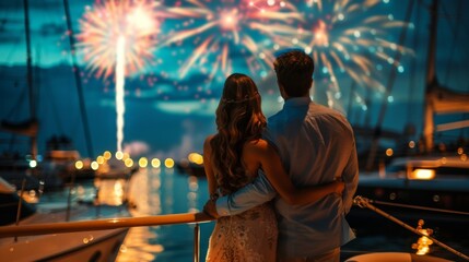
[[[187,0],[169,12],[185,22],[164,45],[192,40],[195,46],[179,76],[199,68],[210,80],[219,72],[225,76],[233,72],[234,60],[244,62],[250,72],[265,75],[274,59],[275,39],[293,34],[296,28],[291,26],[292,22],[302,19],[289,2],[272,0]]]

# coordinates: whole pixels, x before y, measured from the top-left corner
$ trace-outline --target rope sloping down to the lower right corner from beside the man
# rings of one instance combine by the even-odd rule
[[[443,243],[443,242],[438,241],[436,238],[434,238],[434,237],[432,237],[432,236],[426,236],[426,235],[424,235],[423,233],[421,233],[421,231],[417,230],[415,228],[413,228],[413,227],[409,226],[408,224],[406,224],[406,223],[403,223],[403,222],[399,221],[398,218],[396,218],[396,217],[394,217],[394,216],[389,215],[388,213],[386,213],[386,212],[384,212],[384,211],[382,211],[382,210],[377,209],[376,206],[372,205],[370,202],[371,202],[371,200],[368,200],[368,199],[366,199],[366,198],[362,198],[362,196],[360,196],[360,195],[357,195],[357,196],[355,196],[355,198],[353,199],[353,204],[355,204],[355,205],[357,205],[357,206],[360,206],[360,207],[362,207],[362,209],[364,209],[364,207],[370,209],[370,210],[372,210],[372,211],[374,211],[374,212],[378,213],[379,215],[382,215],[382,216],[384,216],[384,217],[386,217],[386,218],[388,218],[388,219],[392,221],[394,223],[396,223],[396,224],[398,224],[398,225],[400,225],[400,226],[404,227],[406,229],[409,229],[410,231],[412,231],[412,233],[414,233],[414,234],[417,234],[417,235],[419,235],[419,236],[421,236],[421,237],[426,237],[426,238],[429,238],[429,239],[430,239],[430,240],[432,240],[434,243],[436,243],[436,245],[438,245],[439,247],[442,247],[442,248],[444,248],[444,249],[448,250],[449,252],[452,252],[452,253],[454,253],[454,254],[458,255],[459,258],[462,258],[462,259],[465,259],[465,260],[469,261],[469,257],[467,257],[466,254],[464,254],[464,253],[461,253],[461,252],[457,251],[456,249],[454,249],[454,248],[452,248],[452,247],[449,247],[449,246],[447,246],[447,245],[445,245],[445,243]]]

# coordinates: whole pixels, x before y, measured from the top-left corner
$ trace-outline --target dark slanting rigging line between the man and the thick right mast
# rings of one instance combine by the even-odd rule
[[[407,7],[407,11],[406,11],[406,19],[404,22],[406,24],[409,23],[410,21],[410,16],[412,14],[412,10],[413,10],[413,3],[414,0],[409,1],[409,5]],[[399,36],[399,45],[403,45],[404,40],[406,40],[406,35],[407,35],[407,28],[408,26],[403,26],[400,36]],[[397,52],[394,59],[394,63],[398,64],[400,61],[402,53],[401,52]],[[397,69],[392,66],[390,73],[389,73],[389,78],[388,78],[388,82],[386,85],[386,93],[383,96],[383,102],[382,102],[382,106],[380,106],[380,110],[379,110],[379,115],[378,115],[378,120],[376,122],[375,126],[375,132],[373,133],[373,138],[372,138],[372,145],[370,148],[370,155],[368,155],[368,159],[366,163],[366,169],[371,170],[373,163],[374,163],[374,158],[376,157],[376,151],[378,150],[378,143],[379,143],[379,135],[380,135],[380,129],[382,129],[382,124],[385,118],[385,114],[386,114],[386,109],[387,109],[387,96],[389,94],[391,94],[392,92],[392,87],[394,87],[394,83],[396,80],[396,74],[397,74]]]

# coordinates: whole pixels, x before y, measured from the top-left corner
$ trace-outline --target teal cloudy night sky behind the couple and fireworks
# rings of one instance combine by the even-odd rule
[[[86,12],[96,11],[106,1],[69,0],[93,152],[85,146],[63,1],[28,2],[39,153],[44,153],[51,135],[70,136],[82,156],[116,151],[114,67],[108,67],[107,75],[98,71],[99,67],[112,64],[114,57],[104,57],[101,63],[93,60],[112,49],[90,57],[90,35],[83,36],[87,32],[83,26],[89,19]],[[215,131],[214,110],[224,79],[233,72],[251,75],[261,91],[265,114],[274,114],[282,102],[269,58],[284,48],[316,53],[312,93],[315,102],[342,111],[353,124],[370,127],[375,126],[382,104],[387,103],[384,129],[401,132],[412,122],[415,139],[421,133],[431,0],[413,1],[408,22],[408,0],[356,0],[343,7],[342,1],[329,0],[143,2],[154,11],[154,24],[142,20],[139,26],[150,26],[145,29],[151,34],[142,43],[134,39],[133,33],[126,35],[127,43],[134,47],[129,51],[137,52],[138,45],[143,45],[146,56],[137,58],[142,61],[141,67],[126,68],[129,70],[125,78],[122,143],[132,156],[177,159],[194,151],[201,152],[203,139]],[[436,74],[448,88],[469,93],[469,16],[462,13],[465,10],[469,10],[469,1],[439,3]],[[213,25],[218,15],[226,19],[231,14],[236,15],[234,25],[232,20]],[[106,24],[112,20],[102,21]],[[320,38],[321,26],[327,38]],[[112,40],[113,29],[104,32],[99,45]],[[404,39],[400,41],[402,32]],[[25,39],[23,1],[1,1],[1,120],[22,121],[30,117]],[[394,82],[389,78],[392,70],[397,71]],[[437,117],[436,122],[462,119],[468,116]],[[437,135],[468,136],[465,132]],[[2,132],[0,141],[1,152],[27,151],[25,138]],[[12,146],[12,141],[21,144]]]

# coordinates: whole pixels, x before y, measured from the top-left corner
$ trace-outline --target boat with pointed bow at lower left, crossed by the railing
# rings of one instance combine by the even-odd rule
[[[33,206],[19,198],[14,188],[0,178],[2,227],[51,222],[90,221],[96,217],[128,216],[126,207],[67,203]],[[7,223],[7,225],[5,225]],[[128,228],[79,231],[28,237],[0,238],[4,261],[114,261]]]

